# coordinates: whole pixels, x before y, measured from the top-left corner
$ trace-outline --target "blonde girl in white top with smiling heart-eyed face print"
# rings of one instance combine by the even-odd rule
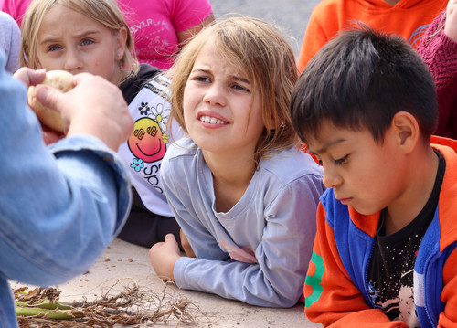
[[[22,65],[100,75],[119,86],[129,104],[135,126],[119,153],[133,176],[133,205],[119,237],[148,248],[167,233],[179,238],[159,175],[170,141],[170,104],[163,98],[170,81],[160,69],[138,63],[117,2],[33,0],[21,35]]]

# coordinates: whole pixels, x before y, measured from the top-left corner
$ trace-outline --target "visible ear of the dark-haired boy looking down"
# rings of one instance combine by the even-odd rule
[[[394,115],[390,130],[404,153],[414,150],[420,140],[419,123],[408,111],[399,111]]]

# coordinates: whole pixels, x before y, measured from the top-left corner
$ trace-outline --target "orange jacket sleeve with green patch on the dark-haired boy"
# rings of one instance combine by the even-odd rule
[[[334,231],[326,223],[325,210],[317,210],[317,235],[304,283],[305,313],[324,327],[405,327],[372,309],[347,274],[335,245]],[[369,318],[369,319],[368,319]]]

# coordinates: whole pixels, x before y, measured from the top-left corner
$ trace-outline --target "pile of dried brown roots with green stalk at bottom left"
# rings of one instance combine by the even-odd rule
[[[165,283],[163,291],[140,288],[133,280],[123,291],[112,294],[119,287],[116,281],[101,297],[94,301],[85,298],[79,302],[59,302],[60,291],[56,288],[20,287],[13,290],[16,300],[16,315],[23,328],[65,328],[102,327],[112,328],[114,324],[147,325],[176,321],[197,325],[197,320],[211,320],[201,312],[194,302],[171,295]]]

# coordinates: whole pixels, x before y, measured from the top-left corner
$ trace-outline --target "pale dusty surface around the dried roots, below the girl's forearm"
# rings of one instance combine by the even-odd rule
[[[58,287],[61,291],[60,301],[80,302],[84,299],[88,301],[100,299],[101,295],[107,292],[110,294],[122,292],[125,286],[133,284],[145,291],[147,297],[151,299],[158,300],[164,295],[165,284],[155,275],[149,263],[148,249],[114,239],[109,249],[106,249],[87,273],[54,287]],[[12,285],[15,288],[21,286],[14,282]],[[161,320],[154,325],[145,323],[135,327],[321,327],[320,324],[310,323],[305,318],[303,304],[297,304],[291,309],[260,308],[212,294],[180,290],[170,284],[166,285],[165,293],[162,311],[166,310],[168,303],[186,301],[189,303],[186,310],[194,322],[190,324],[179,322],[177,316],[172,315],[166,322]]]

